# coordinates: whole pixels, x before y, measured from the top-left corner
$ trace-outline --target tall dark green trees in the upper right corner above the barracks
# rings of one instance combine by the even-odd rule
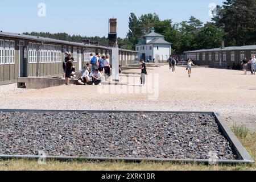
[[[256,0],[227,0],[212,19],[225,31],[227,46],[256,44]]]

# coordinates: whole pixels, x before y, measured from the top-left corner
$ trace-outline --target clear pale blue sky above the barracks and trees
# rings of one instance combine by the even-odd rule
[[[125,38],[130,13],[137,16],[156,13],[160,19],[173,22],[193,15],[210,21],[209,4],[222,5],[224,0],[1,0],[0,30],[5,32],[67,32],[86,36],[107,36],[108,19],[118,19],[118,36]],[[39,3],[46,4],[46,16],[38,16]]]

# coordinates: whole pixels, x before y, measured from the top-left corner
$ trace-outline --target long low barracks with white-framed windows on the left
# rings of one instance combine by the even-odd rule
[[[110,55],[112,48],[75,43],[39,36],[0,32],[0,85],[17,81],[18,77],[44,77],[63,74],[64,52],[71,52],[80,71],[90,61],[90,53]],[[119,49],[119,64],[138,61],[138,52]]]

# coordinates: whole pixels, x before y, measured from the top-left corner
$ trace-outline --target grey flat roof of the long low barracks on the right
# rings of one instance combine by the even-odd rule
[[[196,51],[186,51],[184,53],[196,53],[196,52],[216,52],[216,51],[243,51],[243,50],[256,50],[256,45],[251,46],[238,46],[238,47],[224,47],[213,49],[200,49]]]

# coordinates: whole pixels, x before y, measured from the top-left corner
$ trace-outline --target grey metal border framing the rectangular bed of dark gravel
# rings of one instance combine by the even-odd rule
[[[238,140],[236,135],[232,132],[230,127],[222,120],[219,113],[206,111],[99,111],[99,110],[15,110],[15,109],[0,109],[0,112],[10,113],[10,112],[20,112],[20,113],[134,113],[134,114],[143,114],[143,113],[173,113],[173,114],[210,114],[216,118],[220,132],[224,137],[230,142],[234,154],[238,156],[237,160],[206,160],[206,159],[155,159],[155,158],[86,158],[80,156],[45,156],[47,160],[88,160],[88,161],[125,161],[125,162],[172,162],[172,163],[210,163],[215,164],[253,164],[254,160],[251,158],[249,153],[246,151],[245,147],[242,146],[242,143]],[[35,155],[4,155],[0,154],[0,159],[40,159],[43,156]]]

